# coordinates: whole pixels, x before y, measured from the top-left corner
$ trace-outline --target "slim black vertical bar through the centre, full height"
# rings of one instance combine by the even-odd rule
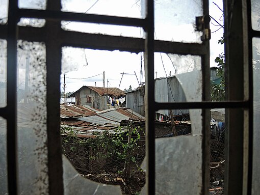
[[[155,141],[154,141],[154,6],[146,0],[145,26],[145,129],[148,193],[155,193]]]

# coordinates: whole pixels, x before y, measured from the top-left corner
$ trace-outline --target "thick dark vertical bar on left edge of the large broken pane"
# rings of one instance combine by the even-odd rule
[[[61,11],[61,1],[47,2],[47,10]],[[62,149],[60,137],[60,74],[61,24],[59,20],[46,20],[46,79],[47,79],[47,147],[49,194],[63,194]]]

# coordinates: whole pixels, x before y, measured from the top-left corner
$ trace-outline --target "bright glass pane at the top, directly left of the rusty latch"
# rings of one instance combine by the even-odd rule
[[[154,37],[158,40],[201,43],[195,26],[196,16],[203,15],[201,0],[154,2]]]

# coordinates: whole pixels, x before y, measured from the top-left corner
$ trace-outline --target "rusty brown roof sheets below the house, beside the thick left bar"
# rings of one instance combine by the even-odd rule
[[[79,118],[79,117],[86,117],[86,116],[92,116],[95,115],[96,112],[93,110],[93,108],[88,108],[87,106],[83,105],[60,105],[60,117],[61,119],[66,118]]]

